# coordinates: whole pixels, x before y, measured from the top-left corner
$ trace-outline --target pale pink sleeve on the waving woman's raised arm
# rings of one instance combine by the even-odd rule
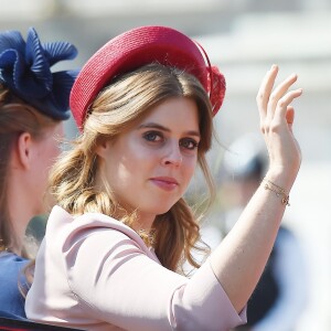
[[[87,313],[119,328],[228,330],[246,321],[207,263],[191,279],[162,267],[137,242],[104,229],[65,250],[72,291]]]

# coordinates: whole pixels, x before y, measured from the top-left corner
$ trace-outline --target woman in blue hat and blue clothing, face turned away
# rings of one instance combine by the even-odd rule
[[[60,153],[76,72],[50,67],[74,58],[65,42],[41,44],[33,28],[0,33],[0,310],[24,317],[29,221],[47,211],[47,172]]]

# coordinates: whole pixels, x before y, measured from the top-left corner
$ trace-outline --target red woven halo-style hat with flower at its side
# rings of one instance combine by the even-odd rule
[[[194,75],[210,93],[213,114],[218,111],[225,95],[225,78],[211,66],[204,50],[171,28],[141,26],[110,40],[83,66],[70,99],[78,128],[83,129],[89,105],[115,75],[151,62],[175,66]]]

